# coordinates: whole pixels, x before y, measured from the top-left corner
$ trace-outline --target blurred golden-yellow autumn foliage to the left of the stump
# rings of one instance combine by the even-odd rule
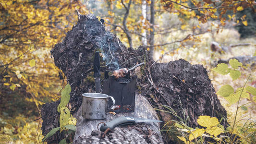
[[[50,49],[86,14],[79,0],[0,1],[0,141],[39,143],[39,109],[59,99]],[[59,89],[58,89],[59,88]],[[36,131],[37,130],[37,131]]]

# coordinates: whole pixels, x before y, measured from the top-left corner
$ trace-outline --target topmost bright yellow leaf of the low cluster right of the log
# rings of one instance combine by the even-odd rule
[[[197,119],[197,123],[203,127],[213,127],[219,124],[219,120],[216,117],[210,116],[199,116]]]

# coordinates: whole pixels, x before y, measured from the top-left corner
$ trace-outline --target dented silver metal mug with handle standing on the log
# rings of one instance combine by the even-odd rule
[[[107,111],[115,105],[115,99],[105,94],[85,93],[82,96],[82,116],[88,120],[106,119]],[[113,105],[108,109],[109,98],[112,99]]]

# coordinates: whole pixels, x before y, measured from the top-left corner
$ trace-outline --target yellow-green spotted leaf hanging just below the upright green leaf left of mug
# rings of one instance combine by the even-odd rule
[[[64,126],[68,125],[68,120],[70,119],[70,111],[67,107],[61,108],[60,115],[60,127],[61,131],[64,130]]]

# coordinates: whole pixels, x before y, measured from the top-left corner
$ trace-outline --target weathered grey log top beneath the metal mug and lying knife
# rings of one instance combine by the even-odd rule
[[[106,120],[85,120],[81,109],[73,115],[77,118],[77,129],[73,144],[163,144],[158,123],[136,124],[129,127],[115,128],[113,132],[101,138],[103,132],[97,131],[98,123],[108,122],[121,116],[157,120],[158,116],[147,99],[139,94],[135,96],[135,111],[130,113],[107,114]]]

